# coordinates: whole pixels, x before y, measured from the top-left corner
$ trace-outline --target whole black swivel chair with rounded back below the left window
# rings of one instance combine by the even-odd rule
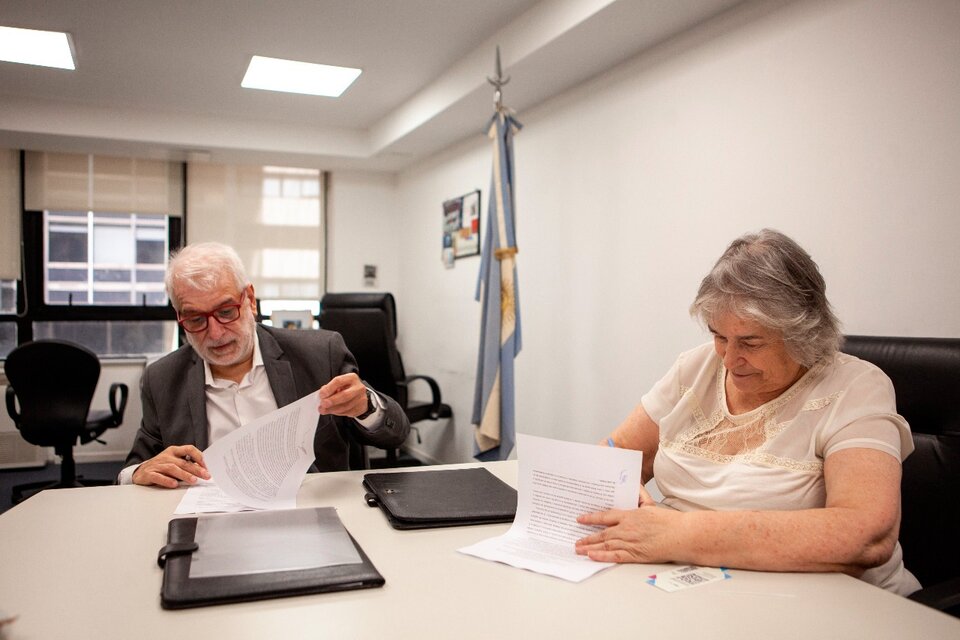
[[[9,381],[7,413],[20,435],[30,444],[53,447],[61,457],[60,480],[15,486],[14,504],[28,491],[113,484],[113,479],[78,479],[73,447],[77,440],[87,444],[107,429],[120,426],[127,406],[127,385],[110,385],[109,411],[90,411],[100,360],[89,349],[63,340],[20,345],[7,356],[4,372]]]

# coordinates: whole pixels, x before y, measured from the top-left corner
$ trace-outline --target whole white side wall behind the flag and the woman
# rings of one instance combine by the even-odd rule
[[[519,114],[519,430],[608,432],[706,339],[700,278],[765,226],[818,261],[848,333],[960,336],[958,33],[956,0],[753,3]],[[480,310],[440,205],[486,207],[489,163],[478,136],[397,187],[401,349],[455,413],[414,448],[444,462],[472,455]]]

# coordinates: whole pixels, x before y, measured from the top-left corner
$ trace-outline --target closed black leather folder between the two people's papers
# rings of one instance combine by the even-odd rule
[[[483,467],[368,473],[363,484],[394,529],[512,522],[517,513],[516,489]]]

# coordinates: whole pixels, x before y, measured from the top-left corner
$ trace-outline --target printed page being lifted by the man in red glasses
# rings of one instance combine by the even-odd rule
[[[203,452],[210,477],[235,502],[254,509],[293,509],[313,464],[317,394],[245,424]]]

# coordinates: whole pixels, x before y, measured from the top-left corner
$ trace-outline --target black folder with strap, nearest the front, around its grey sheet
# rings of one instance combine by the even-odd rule
[[[322,510],[296,509],[287,511],[303,512],[296,515],[310,518],[309,512]],[[339,523],[336,511],[332,508],[329,508],[329,511],[333,511],[333,517]],[[241,512],[219,514],[219,517],[244,518],[255,516],[262,518],[264,514],[271,513],[278,512]],[[231,520],[230,522],[235,523],[237,520]],[[383,576],[380,575],[363,552],[363,549],[346,529],[343,529],[343,532],[346,533],[358,552],[359,563],[245,573],[243,575],[191,577],[190,565],[194,554],[199,549],[196,542],[197,526],[198,518],[195,517],[176,518],[171,520],[168,526],[168,544],[160,550],[160,555],[157,558],[158,564],[163,567],[160,605],[164,609],[184,609],[327,591],[366,589],[380,587],[384,583]],[[342,527],[342,525],[340,526]],[[317,533],[320,535],[319,527]],[[282,538],[282,535],[278,535],[278,537]],[[284,540],[278,539],[278,548],[283,544]],[[240,551],[240,553],[244,553],[244,551]],[[221,557],[223,556],[221,555]]]

